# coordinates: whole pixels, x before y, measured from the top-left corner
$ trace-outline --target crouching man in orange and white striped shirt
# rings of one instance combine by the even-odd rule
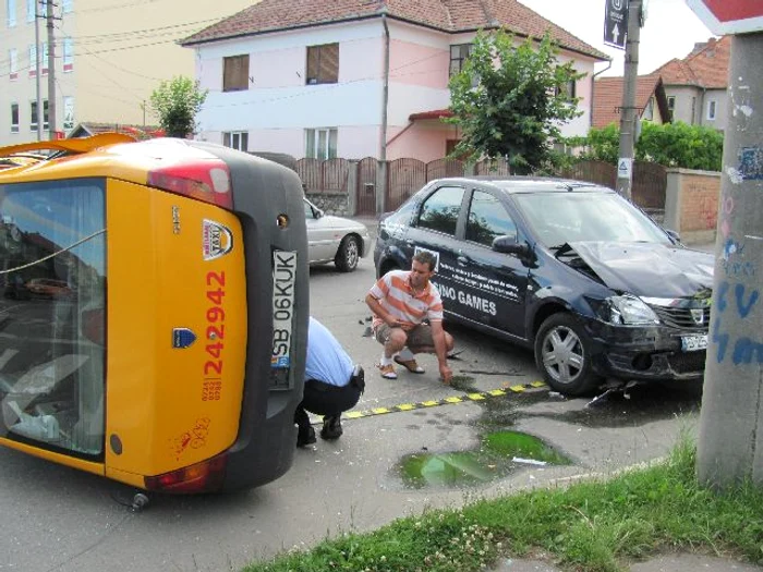
[[[443,329],[443,301],[429,282],[435,263],[432,253],[420,251],[413,256],[410,271],[387,272],[365,296],[374,313],[374,334],[384,344],[379,369],[386,379],[398,377],[393,362],[413,374],[423,374],[413,355],[423,352],[437,354],[444,384],[450,384],[453,377],[448,366],[453,338]]]

